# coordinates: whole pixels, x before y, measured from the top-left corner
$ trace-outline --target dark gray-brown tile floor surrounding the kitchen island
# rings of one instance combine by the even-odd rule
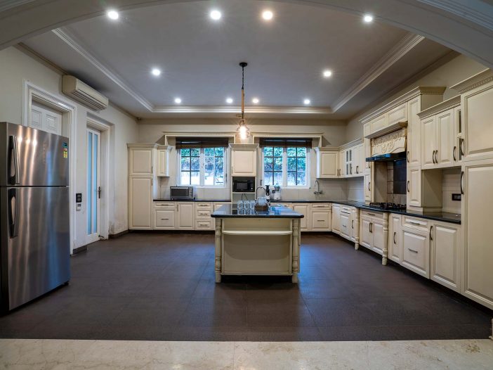
[[[303,236],[300,282],[214,283],[213,235],[127,234],[72,257],[72,280],[0,317],[0,338],[487,338],[493,312],[332,235]]]

